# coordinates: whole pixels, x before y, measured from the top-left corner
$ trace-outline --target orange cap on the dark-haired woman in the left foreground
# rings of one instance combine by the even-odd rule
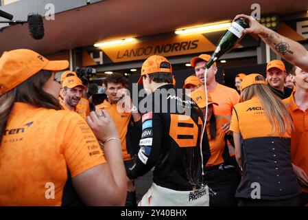
[[[0,58],[0,96],[20,85],[41,69],[60,71],[69,67],[69,61],[49,61],[27,49],[4,52]]]

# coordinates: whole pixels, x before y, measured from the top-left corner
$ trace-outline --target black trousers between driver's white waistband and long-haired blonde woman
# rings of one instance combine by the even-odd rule
[[[210,206],[237,206],[235,191],[241,181],[237,168],[205,172],[204,180],[209,186]]]

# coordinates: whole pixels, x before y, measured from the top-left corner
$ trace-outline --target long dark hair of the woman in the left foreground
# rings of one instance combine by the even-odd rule
[[[43,86],[50,77],[51,72],[41,70],[21,85],[0,96],[0,143],[14,102],[25,102],[46,109],[62,109],[58,99],[43,90]]]

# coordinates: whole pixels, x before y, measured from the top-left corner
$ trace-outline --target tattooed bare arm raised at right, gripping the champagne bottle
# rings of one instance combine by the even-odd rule
[[[265,28],[251,16],[238,14],[235,17],[235,20],[239,18],[247,19],[247,21],[249,21],[250,28],[246,28],[244,33],[258,34],[262,41],[269,45],[275,54],[308,72],[308,51],[303,47],[303,45],[300,45],[300,43],[288,39],[269,28]]]

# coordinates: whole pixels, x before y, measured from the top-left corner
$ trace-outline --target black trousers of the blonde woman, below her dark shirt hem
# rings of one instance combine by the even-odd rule
[[[300,197],[276,201],[241,198],[239,206],[300,206]]]

